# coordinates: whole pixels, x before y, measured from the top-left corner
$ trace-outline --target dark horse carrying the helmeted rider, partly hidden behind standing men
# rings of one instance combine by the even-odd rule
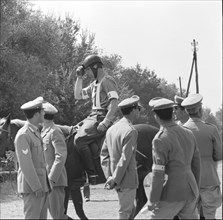
[[[13,141],[17,131],[24,125],[24,123],[25,121],[19,119],[10,120],[10,116],[0,120],[0,157],[5,157],[5,152],[7,150],[15,151]],[[70,127],[61,125],[59,125],[59,127],[66,136],[68,151],[67,161],[65,164],[68,175],[65,209],[67,210],[69,196],[71,196],[78,217],[80,219],[86,219],[87,217],[83,210],[83,200],[80,190],[85,182],[85,175],[83,175],[84,168],[82,166],[80,156],[78,155],[73,144],[76,128],[75,126]],[[147,124],[137,124],[134,125],[134,127],[138,131],[136,160],[138,167],[139,187],[136,193],[136,216],[147,202],[143,181],[145,176],[152,171],[152,139],[158,132],[158,129]],[[98,158],[97,163],[98,161],[100,162],[100,158]]]

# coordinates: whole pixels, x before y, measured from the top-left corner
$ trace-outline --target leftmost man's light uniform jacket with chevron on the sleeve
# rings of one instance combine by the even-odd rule
[[[42,139],[35,126],[26,122],[18,131],[15,149],[19,162],[18,193],[33,193],[40,189],[49,191]]]

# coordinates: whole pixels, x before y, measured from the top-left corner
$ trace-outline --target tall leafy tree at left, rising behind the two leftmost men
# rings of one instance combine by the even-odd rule
[[[20,106],[37,96],[54,104],[62,113],[58,122],[81,118],[73,97],[73,70],[95,50],[94,35],[80,25],[32,11],[25,0],[1,2],[0,114],[22,117]],[[75,119],[76,117],[76,119]]]

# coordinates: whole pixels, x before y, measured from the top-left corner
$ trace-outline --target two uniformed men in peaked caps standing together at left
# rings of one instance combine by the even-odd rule
[[[46,219],[47,209],[53,219],[69,219],[64,213],[67,148],[62,131],[53,122],[58,110],[42,97],[21,109],[27,121],[16,135],[15,150],[25,219]]]

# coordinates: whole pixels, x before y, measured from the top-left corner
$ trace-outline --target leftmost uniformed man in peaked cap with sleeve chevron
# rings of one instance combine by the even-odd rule
[[[48,192],[43,145],[38,126],[43,122],[43,98],[38,97],[21,106],[27,118],[15,137],[19,163],[17,185],[22,194],[25,219],[47,219]]]

